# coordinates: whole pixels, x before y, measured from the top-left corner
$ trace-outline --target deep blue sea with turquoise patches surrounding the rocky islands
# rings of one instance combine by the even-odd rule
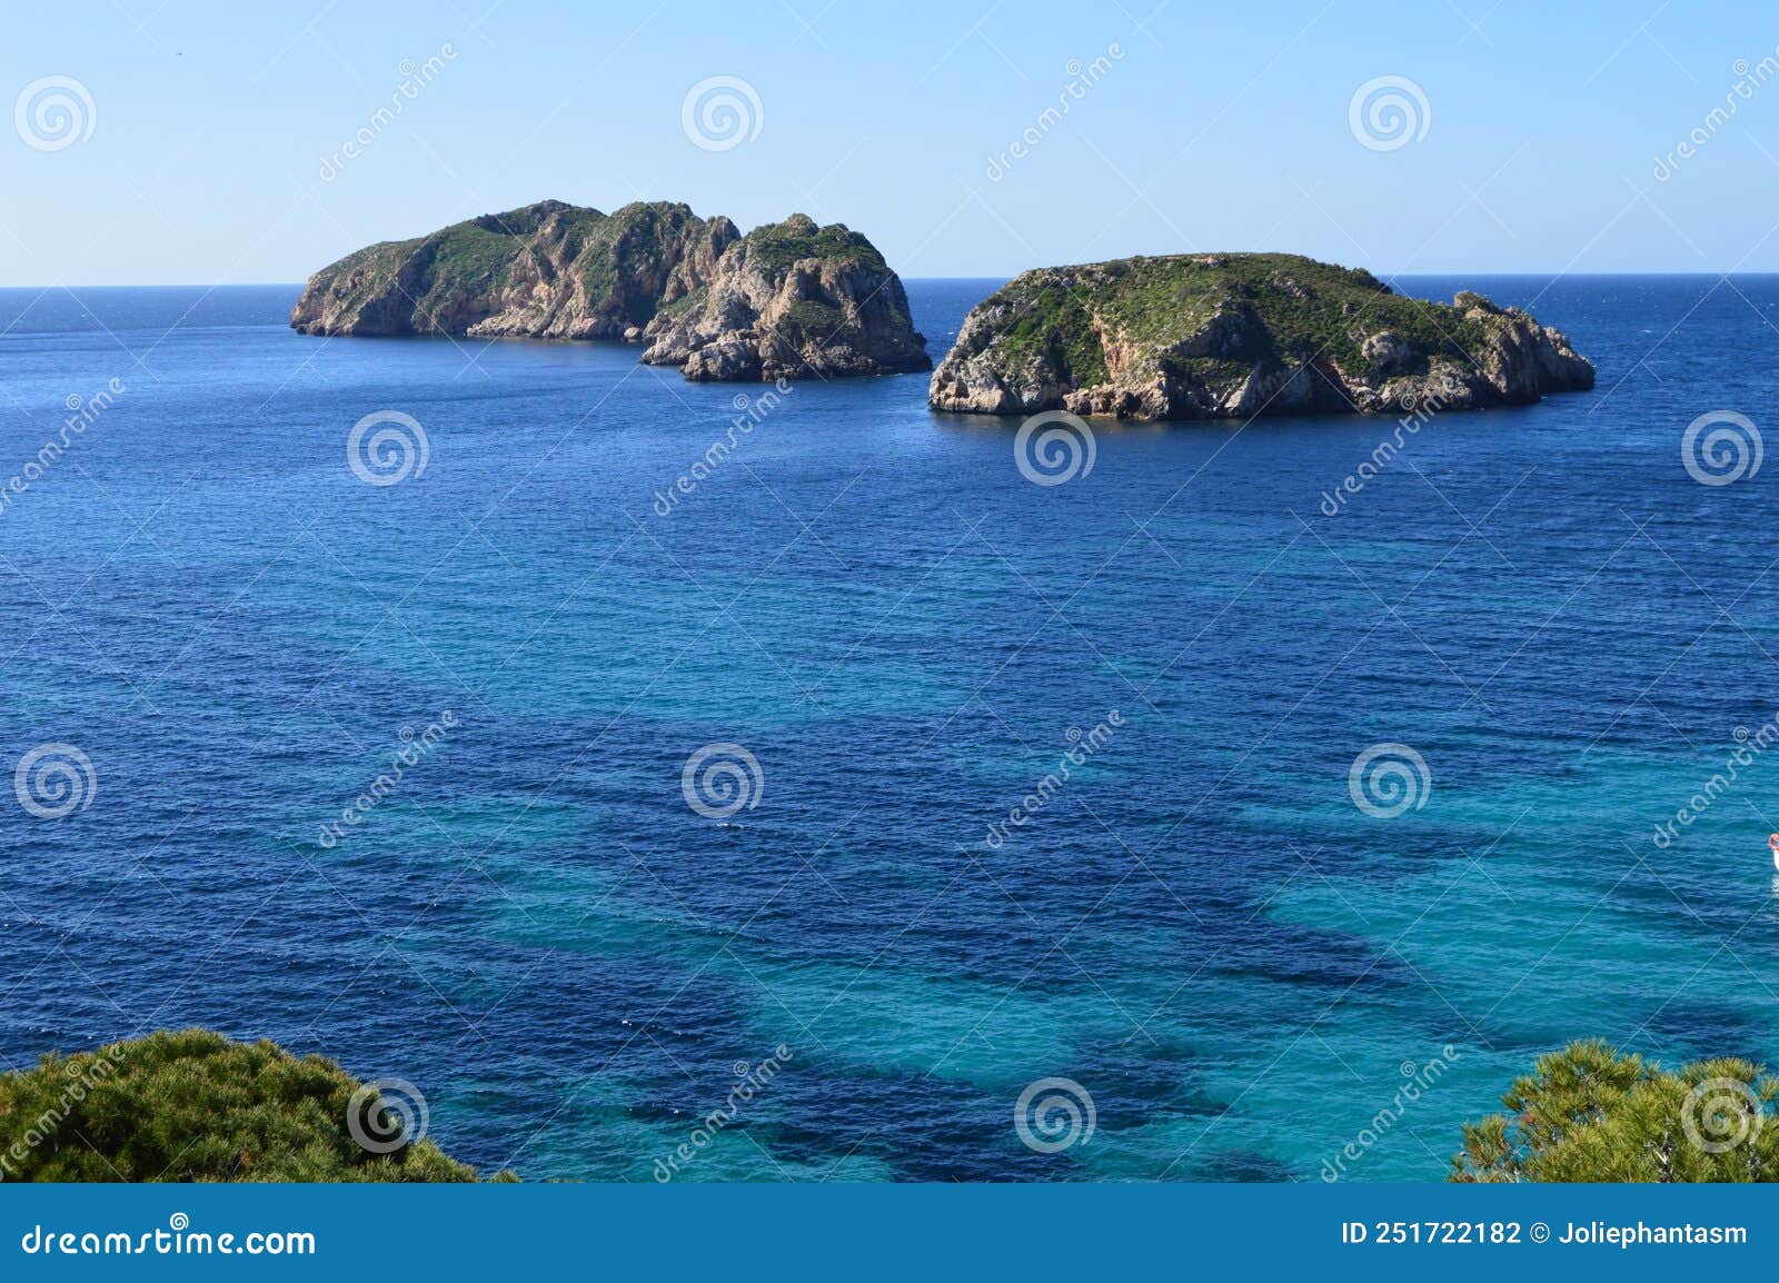
[[[1770,413],[1779,279],[1400,285],[1533,306],[1599,386],[1436,418],[1332,518],[1389,422],[1096,425],[1044,488],[923,375],[797,384],[660,516],[761,388],[304,338],[294,286],[0,292],[0,479],[123,388],[0,507],[0,765],[96,779],[0,808],[0,1057],[213,1025],[626,1180],[779,1045],[688,1178],[1313,1180],[1448,1057],[1347,1164],[1436,1178],[1569,1037],[1779,1057],[1779,772],[1653,842],[1779,710],[1779,466],[1679,454]],[[934,356],[989,288],[911,283]],[[368,486],[382,409],[429,459]],[[729,822],[681,795],[713,742],[763,774]],[[1348,794],[1386,742],[1395,819]],[[1096,1107],[1057,1155],[1044,1077]]]

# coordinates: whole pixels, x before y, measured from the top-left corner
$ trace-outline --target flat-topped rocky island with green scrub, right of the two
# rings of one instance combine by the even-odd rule
[[[1171,254],[1025,272],[977,304],[934,409],[1128,420],[1528,404],[1594,386],[1569,340],[1462,292],[1393,292],[1297,254]]]

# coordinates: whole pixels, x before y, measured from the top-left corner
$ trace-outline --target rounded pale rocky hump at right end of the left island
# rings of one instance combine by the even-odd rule
[[[710,285],[649,322],[644,361],[688,379],[797,379],[930,370],[902,281],[865,237],[793,214],[754,228]]]

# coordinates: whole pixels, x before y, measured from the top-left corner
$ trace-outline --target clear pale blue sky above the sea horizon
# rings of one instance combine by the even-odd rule
[[[1742,0],[12,0],[0,286],[301,281],[543,198],[911,278],[1779,270],[1775,44]]]

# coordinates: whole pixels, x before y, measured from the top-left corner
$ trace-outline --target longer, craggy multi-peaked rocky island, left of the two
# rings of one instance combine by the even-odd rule
[[[688,379],[772,381],[930,370],[907,294],[843,224],[793,214],[745,237],[667,201],[612,214],[539,201],[310,278],[304,335],[461,335],[644,342]]]

